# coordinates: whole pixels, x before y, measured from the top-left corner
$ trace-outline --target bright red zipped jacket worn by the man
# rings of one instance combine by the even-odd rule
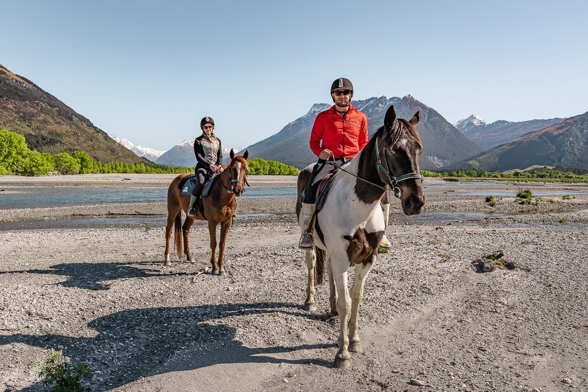
[[[366,144],[368,118],[353,105],[349,104],[345,120],[335,110],[335,105],[316,116],[310,133],[310,149],[316,156],[329,149],[335,158],[353,158]]]

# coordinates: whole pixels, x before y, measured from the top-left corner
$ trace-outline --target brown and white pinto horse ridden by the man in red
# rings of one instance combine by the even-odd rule
[[[326,263],[331,313],[339,314],[340,318],[339,351],[335,357],[335,367],[338,368],[351,367],[349,351],[362,351],[358,334],[359,303],[385,231],[380,199],[390,186],[394,195],[400,198],[406,215],[419,214],[425,204],[419,173],[423,146],[416,131],[418,122],[419,112],[406,121],[396,118],[394,106],[390,106],[384,125],[348,165],[335,173],[322,209],[315,217],[312,230],[315,247],[306,250],[308,286],[304,309],[316,310],[315,283],[322,283]],[[309,165],[298,176],[298,200],[311,169],[312,165]],[[303,226],[300,201],[296,213],[300,226]],[[355,278],[349,293],[348,270],[354,263]],[[346,323],[349,314],[349,323]]]

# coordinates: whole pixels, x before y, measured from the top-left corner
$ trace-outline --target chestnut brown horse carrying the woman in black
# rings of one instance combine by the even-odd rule
[[[169,185],[168,189],[168,224],[165,226],[165,265],[171,266],[172,262],[169,260],[169,237],[172,235],[172,228],[175,227],[175,235],[173,237],[173,245],[178,253],[178,259],[183,259],[182,254],[182,236],[183,233],[183,253],[189,262],[192,261],[192,254],[188,247],[188,234],[190,227],[192,227],[195,220],[207,220],[208,232],[211,236],[211,264],[212,274],[224,275],[225,267],[223,266],[223,253],[225,252],[226,234],[229,231],[233,220],[233,214],[237,208],[237,201],[235,196],[243,194],[243,184],[246,182],[246,173],[248,169],[247,158],[249,151],[245,150],[243,156],[235,156],[235,152],[230,150],[230,163],[223,167],[222,173],[218,176],[215,183],[211,186],[207,196],[202,197],[204,205],[204,215],[200,212],[198,206],[195,206],[196,216],[186,215],[186,220],[182,226],[182,210],[184,213],[188,211],[190,205],[190,196],[181,195],[179,183],[191,173],[183,173]],[[219,259],[218,264],[215,262],[216,252],[216,226],[220,224],[220,244],[219,244]]]

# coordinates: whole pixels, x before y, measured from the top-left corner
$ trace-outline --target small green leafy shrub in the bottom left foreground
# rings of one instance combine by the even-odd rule
[[[43,377],[43,386],[52,385],[52,392],[83,392],[90,388],[82,386],[81,381],[92,380],[92,371],[85,362],[72,366],[61,350],[51,349],[39,377]]]

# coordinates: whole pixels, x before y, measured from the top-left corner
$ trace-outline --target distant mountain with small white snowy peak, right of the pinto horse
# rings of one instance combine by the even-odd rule
[[[453,124],[468,139],[484,149],[491,149],[503,143],[508,143],[525,133],[534,132],[550,125],[561,122],[562,118],[552,118],[546,120],[529,120],[522,122],[512,122],[497,120],[487,124],[483,118],[477,115],[471,115],[466,119],[459,120]]]

